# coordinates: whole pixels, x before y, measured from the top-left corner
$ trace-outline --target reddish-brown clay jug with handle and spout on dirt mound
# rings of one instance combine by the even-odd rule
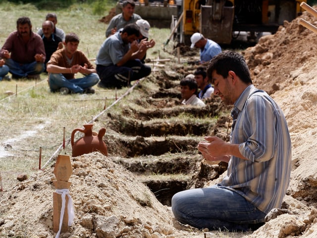
[[[99,133],[93,131],[93,124],[85,124],[85,129],[76,128],[71,133],[71,146],[72,157],[76,157],[83,154],[88,154],[94,151],[99,151],[104,155],[108,155],[106,144],[103,140],[103,136],[106,133],[105,128],[101,128]],[[76,131],[85,133],[85,136],[79,138],[74,142],[74,136]]]

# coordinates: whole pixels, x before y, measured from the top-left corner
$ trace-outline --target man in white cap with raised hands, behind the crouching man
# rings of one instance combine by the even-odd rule
[[[149,41],[150,24],[147,20],[139,19],[136,21],[137,26],[140,28],[139,36],[139,51],[136,53],[137,59],[140,59],[142,63],[145,63],[147,50],[155,46],[155,41],[151,39]]]

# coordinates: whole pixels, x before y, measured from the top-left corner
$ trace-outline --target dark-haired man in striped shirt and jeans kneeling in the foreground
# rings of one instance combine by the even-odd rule
[[[207,136],[198,150],[208,161],[228,162],[227,176],[211,187],[189,189],[172,198],[175,218],[200,229],[254,230],[280,208],[289,185],[291,140],[279,106],[252,84],[244,58],[224,51],[209,63],[214,94],[231,111],[230,143]]]

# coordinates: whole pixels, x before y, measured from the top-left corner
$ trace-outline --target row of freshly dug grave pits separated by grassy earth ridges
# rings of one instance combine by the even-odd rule
[[[101,120],[106,123],[105,142],[113,161],[170,206],[176,192],[202,187],[226,171],[225,163],[204,161],[196,147],[205,135],[229,140],[229,118],[222,116],[229,114],[218,97],[209,99],[205,108],[181,105],[178,77],[157,79],[150,79],[159,84],[156,91],[142,85],[137,90],[146,96],[129,102],[142,105],[142,110],[129,106]]]

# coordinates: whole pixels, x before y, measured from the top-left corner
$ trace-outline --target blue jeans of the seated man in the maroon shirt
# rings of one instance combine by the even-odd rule
[[[44,71],[44,63],[34,61],[32,63],[18,63],[12,59],[5,60],[5,65],[9,67],[9,72],[18,77],[27,77],[28,75],[40,74]]]

